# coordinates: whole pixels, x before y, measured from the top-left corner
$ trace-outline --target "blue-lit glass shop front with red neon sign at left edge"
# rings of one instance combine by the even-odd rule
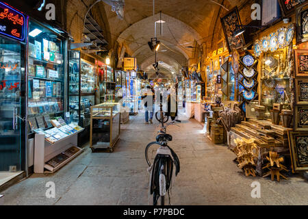
[[[27,16],[0,2],[0,186],[27,172]],[[17,18],[12,21],[8,14]]]

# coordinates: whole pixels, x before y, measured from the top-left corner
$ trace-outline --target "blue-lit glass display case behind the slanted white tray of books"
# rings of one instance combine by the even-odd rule
[[[28,102],[29,131],[49,129],[50,120],[64,118],[66,101],[65,39],[29,21]]]

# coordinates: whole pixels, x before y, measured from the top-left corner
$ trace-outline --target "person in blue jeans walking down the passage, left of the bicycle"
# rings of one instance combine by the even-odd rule
[[[144,102],[145,123],[149,124],[149,121],[150,121],[150,123],[153,124],[155,94],[151,86],[146,87],[146,90],[144,91],[144,94],[141,97],[141,99]]]

